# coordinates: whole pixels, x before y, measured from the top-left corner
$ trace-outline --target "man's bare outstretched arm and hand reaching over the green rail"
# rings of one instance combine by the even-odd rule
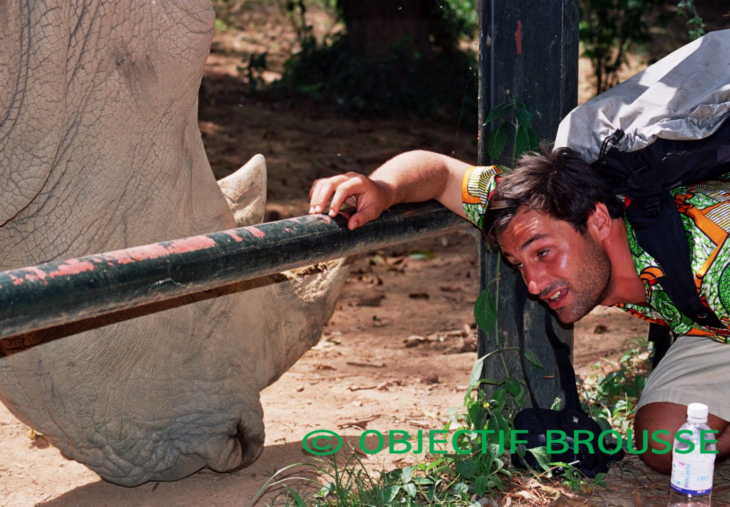
[[[454,213],[465,216],[461,182],[470,167],[466,162],[431,151],[401,153],[369,177],[347,172],[316,180],[310,190],[310,213],[326,210],[330,199],[330,216],[337,215],[343,204],[350,205],[356,213],[350,216],[347,228],[355,229],[392,205],[437,199]]]

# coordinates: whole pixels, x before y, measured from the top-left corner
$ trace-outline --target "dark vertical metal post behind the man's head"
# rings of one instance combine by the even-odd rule
[[[491,107],[507,102],[510,94],[533,110],[533,126],[542,139],[553,140],[558,123],[577,104],[578,0],[479,0],[479,159],[480,165],[510,164],[509,156],[499,161],[486,152],[489,125],[483,125]],[[510,141],[511,142],[511,141]],[[508,144],[504,153],[512,153]],[[498,305],[499,323],[490,335],[480,332],[480,357],[495,347],[518,346],[512,294],[516,272],[499,253],[487,250],[483,241],[480,254],[480,287],[491,283]],[[496,278],[496,281],[492,281]],[[554,319],[553,319],[554,320]],[[558,336],[572,348],[572,326],[558,327]],[[545,365],[528,372],[538,403],[550,407],[560,392],[558,373],[543,327],[543,309],[529,300],[525,311],[527,347]],[[497,354],[496,354],[497,355]],[[507,370],[522,378],[518,354],[504,354]],[[504,378],[504,363],[487,360],[484,376]],[[529,403],[529,402],[528,402]]]

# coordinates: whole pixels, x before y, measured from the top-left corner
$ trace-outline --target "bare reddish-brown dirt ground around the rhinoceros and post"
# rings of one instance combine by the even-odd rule
[[[216,178],[264,154],[268,220],[304,214],[315,178],[370,172],[404,150],[428,148],[475,161],[471,126],[341,118],[326,107],[252,99],[237,79],[240,61],[225,51],[210,57],[201,132]],[[415,250],[433,256],[409,256]],[[448,409],[461,405],[476,359],[476,296],[477,258],[468,235],[361,256],[318,346],[261,393],[266,449],[250,468],[234,473],[201,470],[180,481],[118,487],[64,459],[44,438],[31,440],[29,428],[0,405],[0,506],[245,506],[276,470],[310,460],[301,441],[311,430],[334,430],[355,442],[365,429],[439,429]],[[594,363],[615,360],[645,332],[641,321],[618,310],[594,310],[575,327],[578,373],[585,378]],[[373,469],[412,460],[365,459]],[[636,461],[629,467],[641,470]],[[642,483],[645,506],[665,498],[666,481],[655,479]],[[545,503],[539,487],[529,495],[535,505]],[[610,497],[604,492],[591,504],[610,505]]]

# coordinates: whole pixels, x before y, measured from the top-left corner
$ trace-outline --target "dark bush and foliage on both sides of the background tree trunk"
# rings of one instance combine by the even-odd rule
[[[305,1],[291,1],[303,26]],[[337,0],[334,5],[339,15],[343,4]],[[477,59],[458,47],[477,34],[476,0],[433,0],[426,6],[431,9],[427,15],[436,20],[429,23],[428,50],[403,37],[383,55],[363,55],[353,50],[347,31],[317,40],[309,27],[301,32],[301,51],[286,62],[277,88],[329,102],[347,113],[458,115],[465,123],[476,123]]]

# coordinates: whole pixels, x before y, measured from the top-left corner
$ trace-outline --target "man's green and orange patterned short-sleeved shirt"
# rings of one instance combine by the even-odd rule
[[[491,193],[499,183],[500,174],[507,170],[499,166],[472,167],[464,175],[461,187],[464,212],[480,229]],[[697,291],[718,319],[730,327],[730,174],[698,185],[677,187],[669,193],[675,198],[687,233]],[[627,303],[616,307],[640,319],[667,324],[677,334],[706,335],[730,343],[730,329],[700,327],[677,310],[656,283],[664,276],[661,266],[639,246],[628,222],[626,232],[634,267],[644,282],[649,304]]]

